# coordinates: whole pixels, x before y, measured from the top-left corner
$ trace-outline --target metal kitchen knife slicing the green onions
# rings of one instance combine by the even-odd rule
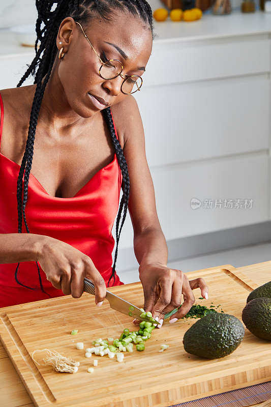
[[[95,296],[95,285],[91,280],[84,277],[84,291]],[[106,290],[105,298],[108,300],[110,307],[118,312],[129,315],[132,318],[140,319],[141,321],[149,321],[147,318],[141,318],[142,310],[121,297],[116,296]]]

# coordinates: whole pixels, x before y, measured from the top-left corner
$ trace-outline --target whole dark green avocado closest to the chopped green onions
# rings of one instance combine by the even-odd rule
[[[207,359],[223,358],[235,351],[245,328],[234,315],[220,312],[203,316],[190,327],[183,339],[185,351]]]

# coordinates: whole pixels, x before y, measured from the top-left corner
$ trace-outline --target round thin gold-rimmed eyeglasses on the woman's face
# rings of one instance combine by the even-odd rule
[[[103,62],[101,60],[100,56],[98,55],[98,53],[96,52],[96,50],[94,49],[92,43],[87,38],[87,35],[85,34],[82,25],[78,21],[75,21],[75,23],[80,25],[81,30],[82,30],[85,38],[87,39],[89,44],[91,44],[94,52],[96,53],[96,55],[98,56],[99,60],[102,63],[102,65],[101,65],[101,67],[99,69],[100,76],[103,79],[114,79],[118,75],[121,76],[124,79],[124,81],[122,83],[122,86],[121,86],[121,91],[123,93],[125,93],[126,95],[130,95],[132,93],[140,91],[140,88],[142,86],[142,78],[141,78],[141,76],[139,76],[139,75],[125,75],[125,76],[122,75],[123,65],[122,65],[121,61],[107,60],[106,62]]]

